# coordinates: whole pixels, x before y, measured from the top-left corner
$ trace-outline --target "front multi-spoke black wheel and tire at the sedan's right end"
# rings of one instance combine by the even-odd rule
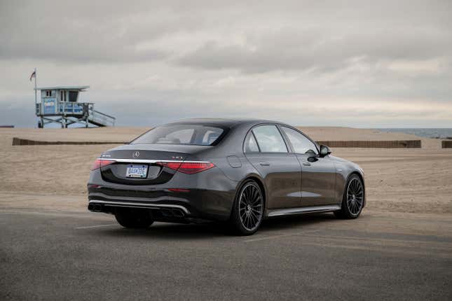
[[[364,207],[364,185],[357,176],[352,174],[345,185],[341,210],[334,211],[337,218],[354,219],[361,214]]]

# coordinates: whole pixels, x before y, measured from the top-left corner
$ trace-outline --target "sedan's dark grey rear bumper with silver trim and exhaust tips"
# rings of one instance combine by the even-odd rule
[[[217,167],[198,174],[177,172],[165,183],[130,185],[113,183],[100,169],[90,174],[88,209],[114,214],[117,209],[149,209],[160,216],[225,221],[231,216],[238,183]]]

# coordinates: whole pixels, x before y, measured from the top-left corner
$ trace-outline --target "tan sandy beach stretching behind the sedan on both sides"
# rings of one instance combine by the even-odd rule
[[[300,127],[316,140],[420,139],[402,133],[348,127]],[[0,129],[1,207],[85,209],[90,167],[116,145],[11,146],[13,137],[40,141],[130,141],[147,128]],[[357,162],[365,172],[366,211],[452,214],[452,149],[439,139],[422,148],[334,148],[333,155]],[[27,195],[28,197],[21,197]],[[31,197],[30,197],[31,196]],[[59,197],[64,196],[64,197]],[[68,199],[74,202],[67,202]],[[14,200],[14,202],[11,202]]]

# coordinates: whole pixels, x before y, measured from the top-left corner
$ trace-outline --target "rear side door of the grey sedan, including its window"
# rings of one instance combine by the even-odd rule
[[[261,174],[267,188],[267,208],[299,207],[301,165],[276,125],[254,127],[245,138],[245,156]]]

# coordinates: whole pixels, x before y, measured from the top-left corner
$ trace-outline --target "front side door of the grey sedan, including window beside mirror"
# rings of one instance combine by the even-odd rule
[[[301,164],[301,206],[335,204],[336,167],[329,155],[320,157],[317,146],[301,132],[280,128]]]

